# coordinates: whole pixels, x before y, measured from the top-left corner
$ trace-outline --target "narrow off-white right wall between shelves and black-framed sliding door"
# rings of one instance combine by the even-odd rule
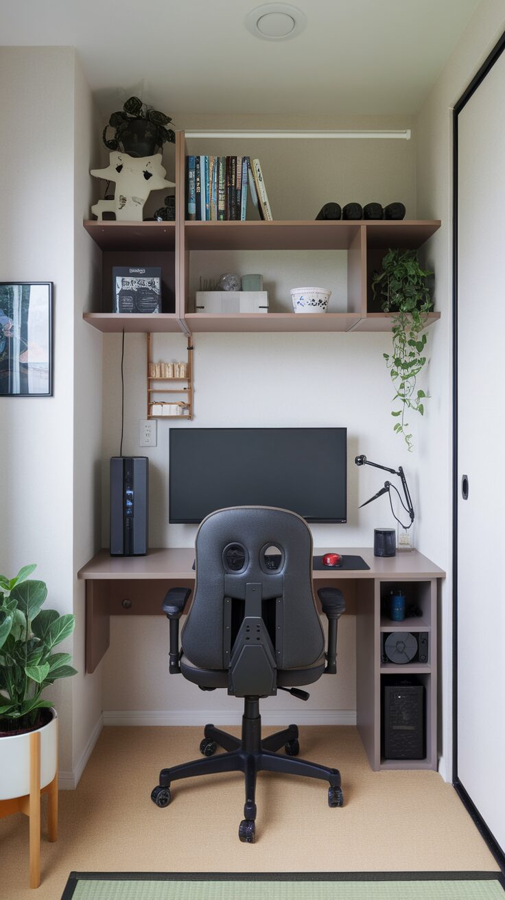
[[[441,219],[442,228],[426,251],[435,269],[437,310],[442,317],[430,329],[432,352],[427,428],[419,443],[419,483],[424,515],[419,547],[446,569],[441,592],[440,770],[452,772],[452,121],[453,107],[505,28],[500,0],[482,0],[454,54],[419,112],[416,130],[419,219]],[[501,115],[499,109],[496,115]]]

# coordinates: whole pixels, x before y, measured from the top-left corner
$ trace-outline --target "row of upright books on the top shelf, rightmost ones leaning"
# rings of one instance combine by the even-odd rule
[[[245,220],[248,190],[260,218],[272,220],[259,159],[188,156],[185,169],[189,220]]]

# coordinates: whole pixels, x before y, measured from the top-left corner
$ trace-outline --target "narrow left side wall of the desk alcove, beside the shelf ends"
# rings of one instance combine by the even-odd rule
[[[89,169],[99,165],[100,121],[78,58],[74,99],[74,665],[72,679],[72,777],[78,780],[99,733],[102,719],[102,667],[86,673],[85,583],[77,572],[100,546],[102,456],[102,341],[83,320],[100,290],[101,254],[83,228],[95,187]]]

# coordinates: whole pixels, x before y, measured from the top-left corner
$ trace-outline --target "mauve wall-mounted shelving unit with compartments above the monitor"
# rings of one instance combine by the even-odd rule
[[[104,251],[102,298],[100,302],[96,301],[97,311],[87,312],[84,316],[90,325],[104,332],[121,332],[123,328],[125,331],[185,333],[391,330],[391,314],[380,312],[374,306],[372,272],[380,267],[389,247],[421,247],[440,228],[438,220],[186,221],[185,155],[185,135],[177,131],[176,221],[85,221],[86,231]],[[340,306],[344,305],[342,311],[309,315],[288,311],[228,315],[195,313],[191,311],[194,309],[190,299],[194,288],[190,291],[189,272],[192,258],[194,266],[202,266],[202,260],[197,263],[197,257],[192,257],[192,251],[202,250],[211,253],[240,250],[347,251],[347,302],[340,303]],[[133,258],[132,263],[130,260]],[[166,312],[153,315],[109,312],[112,309],[113,266],[131,265],[162,266]],[[342,265],[339,257],[340,277]],[[261,259],[258,257],[257,271],[261,271],[260,266]],[[289,299],[289,293],[287,296]],[[283,297],[285,301],[284,294]],[[439,313],[430,313],[427,325],[438,318]]]

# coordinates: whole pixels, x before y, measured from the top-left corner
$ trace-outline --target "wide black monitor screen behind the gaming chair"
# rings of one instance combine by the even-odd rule
[[[170,428],[169,521],[272,506],[347,521],[346,428]]]

